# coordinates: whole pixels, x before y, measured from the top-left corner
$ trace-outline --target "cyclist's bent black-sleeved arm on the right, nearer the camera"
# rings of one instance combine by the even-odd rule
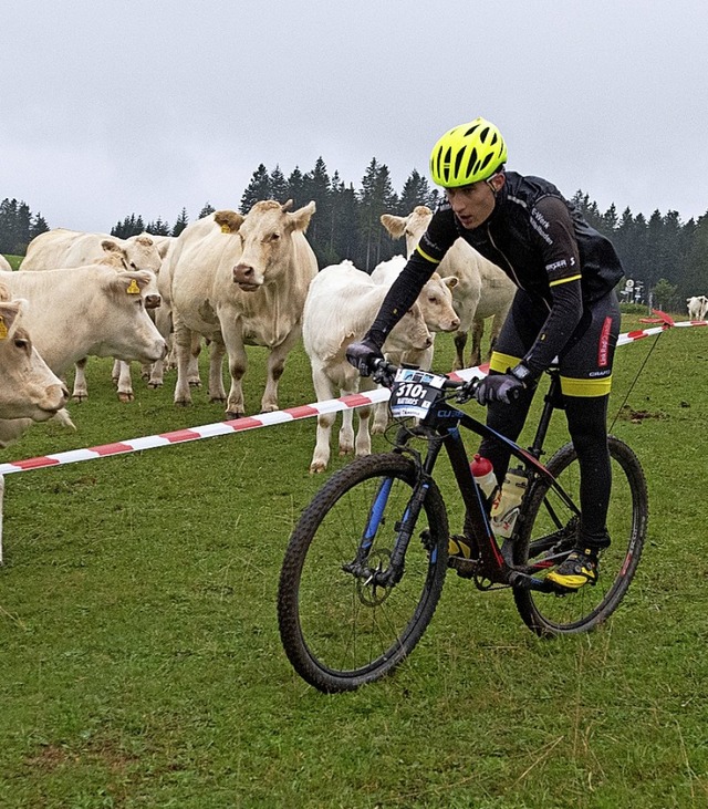
[[[583,314],[581,265],[573,222],[558,197],[540,199],[531,211],[534,237],[543,255],[551,303],[549,315],[522,364],[538,377],[551,365]]]

